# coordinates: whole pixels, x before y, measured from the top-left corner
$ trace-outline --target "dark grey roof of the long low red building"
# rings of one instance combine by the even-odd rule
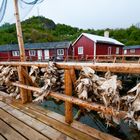
[[[25,50],[36,50],[36,49],[54,49],[54,48],[69,48],[71,42],[47,42],[47,43],[26,43],[24,45]],[[18,44],[0,45],[0,51],[14,51],[19,50]]]

